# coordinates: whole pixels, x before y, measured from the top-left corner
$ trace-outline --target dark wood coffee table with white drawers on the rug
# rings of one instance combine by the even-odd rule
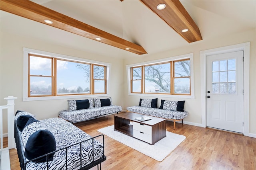
[[[135,118],[146,116],[151,120],[138,121]],[[154,145],[166,137],[166,119],[138,113],[119,113],[114,115],[114,130]]]

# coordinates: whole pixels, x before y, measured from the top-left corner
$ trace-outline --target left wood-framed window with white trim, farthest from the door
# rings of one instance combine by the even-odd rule
[[[107,96],[109,70],[109,63],[24,48],[24,100]]]

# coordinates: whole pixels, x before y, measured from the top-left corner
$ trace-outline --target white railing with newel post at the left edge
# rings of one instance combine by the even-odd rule
[[[0,106],[0,158],[1,165],[0,169],[10,169],[10,158],[9,158],[9,149],[15,148],[14,141],[14,100],[17,99],[13,96],[8,96],[4,98],[7,100],[6,106]],[[8,121],[8,147],[3,148],[3,109],[7,109],[7,121]]]

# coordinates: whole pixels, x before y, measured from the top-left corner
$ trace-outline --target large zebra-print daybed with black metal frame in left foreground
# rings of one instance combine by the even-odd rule
[[[62,118],[17,111],[14,123],[21,170],[87,170],[106,160],[104,135],[91,137]]]

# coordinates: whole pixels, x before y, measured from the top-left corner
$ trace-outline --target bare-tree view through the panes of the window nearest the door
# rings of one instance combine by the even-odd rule
[[[171,65],[174,75],[171,80]],[[172,61],[148,66],[132,68],[132,92],[137,92],[140,87],[136,80],[142,78],[144,68],[144,93],[168,93],[172,94],[171,84],[174,86],[174,94],[190,94],[190,60]]]

